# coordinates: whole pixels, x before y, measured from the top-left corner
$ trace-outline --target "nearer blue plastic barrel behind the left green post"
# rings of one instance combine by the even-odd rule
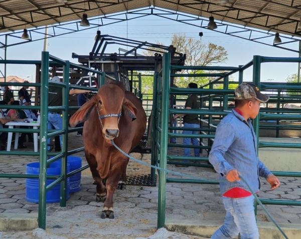
[[[40,163],[29,163],[26,165],[26,174],[38,174],[40,171]],[[70,171],[70,166],[67,164],[67,172]],[[61,166],[58,164],[51,164],[49,168],[47,168],[47,175],[60,175],[61,174]],[[47,185],[52,183],[54,179],[48,179]],[[39,202],[39,179],[38,178],[27,178],[26,179],[26,195],[25,199],[30,202]],[[60,201],[60,183],[56,184],[46,193],[46,202],[59,202]],[[66,190],[66,199],[68,200],[70,188],[70,180],[67,179],[67,190]]]

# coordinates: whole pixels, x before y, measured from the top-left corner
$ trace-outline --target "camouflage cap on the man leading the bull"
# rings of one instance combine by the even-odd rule
[[[262,103],[269,100],[269,96],[260,93],[259,88],[252,83],[241,83],[234,91],[234,100],[255,98]]]

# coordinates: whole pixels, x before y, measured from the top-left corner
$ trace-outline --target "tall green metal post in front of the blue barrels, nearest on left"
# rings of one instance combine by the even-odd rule
[[[48,81],[49,52],[42,52],[41,62],[41,125],[40,125],[40,185],[39,227],[46,228],[46,178],[47,178],[47,134],[48,134]]]

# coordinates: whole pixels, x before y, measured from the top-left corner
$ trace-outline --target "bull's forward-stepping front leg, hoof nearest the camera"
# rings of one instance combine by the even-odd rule
[[[126,170],[126,165],[128,162],[128,158],[118,159],[117,165],[112,166],[112,170],[106,181],[106,191],[107,197],[103,205],[103,210],[100,214],[101,218],[114,218],[114,211],[113,211],[113,195],[118,186],[118,181],[120,176],[122,175],[123,170]]]

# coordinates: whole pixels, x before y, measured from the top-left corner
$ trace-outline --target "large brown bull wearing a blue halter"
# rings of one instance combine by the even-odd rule
[[[120,115],[121,114],[121,115]],[[110,142],[129,153],[142,138],[146,115],[142,104],[118,83],[103,85],[71,118],[70,125],[86,121],[83,128],[85,155],[96,181],[96,201],[104,201],[101,218],[114,218],[113,194],[123,189],[128,157]],[[105,185],[102,182],[105,179]],[[119,185],[118,185],[119,182]]]

